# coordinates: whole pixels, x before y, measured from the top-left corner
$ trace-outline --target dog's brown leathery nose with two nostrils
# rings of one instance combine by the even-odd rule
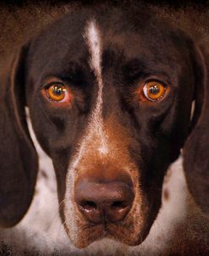
[[[132,186],[122,181],[83,181],[77,184],[74,194],[80,212],[93,223],[123,220],[129,213],[134,198]]]

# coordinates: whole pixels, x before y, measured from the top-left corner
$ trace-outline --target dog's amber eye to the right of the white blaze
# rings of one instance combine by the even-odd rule
[[[143,87],[143,92],[148,100],[156,102],[164,97],[166,89],[167,87],[162,85],[161,82],[148,81]]]

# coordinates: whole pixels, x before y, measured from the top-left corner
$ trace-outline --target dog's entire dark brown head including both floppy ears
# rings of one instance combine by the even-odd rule
[[[77,247],[102,237],[140,244],[181,147],[190,192],[208,210],[205,76],[190,37],[149,14],[85,10],[58,20],[1,70],[0,225],[23,217],[36,183],[25,106]]]

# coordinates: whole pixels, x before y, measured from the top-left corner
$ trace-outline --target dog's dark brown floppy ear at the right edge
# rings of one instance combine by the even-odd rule
[[[184,145],[184,172],[189,190],[201,209],[209,212],[209,54],[193,43],[195,110]]]

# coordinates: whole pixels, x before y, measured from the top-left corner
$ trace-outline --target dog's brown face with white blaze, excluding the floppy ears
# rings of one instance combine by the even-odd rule
[[[74,243],[85,247],[107,236],[139,244],[189,128],[188,51],[180,37],[151,22],[133,30],[135,19],[124,16],[78,18],[72,25],[69,15],[32,42],[31,120],[52,157]]]

